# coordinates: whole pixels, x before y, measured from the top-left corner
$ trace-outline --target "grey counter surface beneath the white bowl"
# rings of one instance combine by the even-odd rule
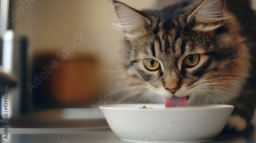
[[[1,129],[3,131],[3,128]],[[70,128],[9,128],[8,139],[1,134],[3,143],[124,143],[111,129],[70,129]],[[253,143],[256,141],[256,131],[245,133],[221,133],[211,142]]]

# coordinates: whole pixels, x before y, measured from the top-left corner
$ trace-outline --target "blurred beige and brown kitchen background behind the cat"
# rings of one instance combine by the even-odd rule
[[[123,2],[159,9],[177,1]],[[118,21],[107,0],[1,0],[0,63],[13,81],[8,91],[13,126],[45,127],[45,118],[103,118],[97,107],[115,104],[125,84],[118,66],[122,31],[112,22]],[[9,55],[5,47],[12,47]],[[12,59],[8,69],[4,55]],[[2,115],[3,101],[2,96]],[[37,120],[24,124],[21,118]],[[64,125],[56,123],[51,126]]]

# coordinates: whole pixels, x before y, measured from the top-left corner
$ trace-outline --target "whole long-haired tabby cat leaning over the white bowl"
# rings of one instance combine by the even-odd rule
[[[131,78],[161,99],[234,105],[226,128],[251,127],[256,18],[249,1],[184,1],[162,10],[111,3],[124,34],[122,64]]]

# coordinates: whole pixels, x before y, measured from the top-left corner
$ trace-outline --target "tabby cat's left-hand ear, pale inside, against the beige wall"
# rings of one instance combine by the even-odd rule
[[[145,34],[145,26],[151,21],[142,16],[137,10],[117,1],[112,1],[116,15],[121,23],[115,24],[122,28],[124,35],[129,39],[135,39]]]

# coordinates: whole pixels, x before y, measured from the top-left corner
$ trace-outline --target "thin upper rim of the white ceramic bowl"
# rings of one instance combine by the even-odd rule
[[[131,107],[119,107],[119,106],[127,106],[131,105]],[[133,105],[133,106],[132,106]],[[138,107],[134,107],[137,106]],[[146,106],[159,106],[157,108],[146,108],[141,109],[140,107]],[[164,104],[110,104],[110,105],[101,105],[100,109],[112,109],[112,110],[129,110],[129,111],[191,111],[191,110],[210,110],[210,109],[233,109],[233,105],[226,104],[196,104],[196,105],[188,105],[187,107],[170,107],[163,108]]]

